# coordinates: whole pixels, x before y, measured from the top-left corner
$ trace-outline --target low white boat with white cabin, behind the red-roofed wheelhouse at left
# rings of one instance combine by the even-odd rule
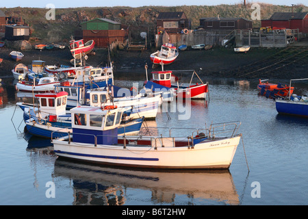
[[[42,77],[38,83],[34,79],[33,81],[18,81],[16,83],[16,89],[23,92],[47,92],[53,91],[55,85],[59,85],[60,82],[56,77]]]

